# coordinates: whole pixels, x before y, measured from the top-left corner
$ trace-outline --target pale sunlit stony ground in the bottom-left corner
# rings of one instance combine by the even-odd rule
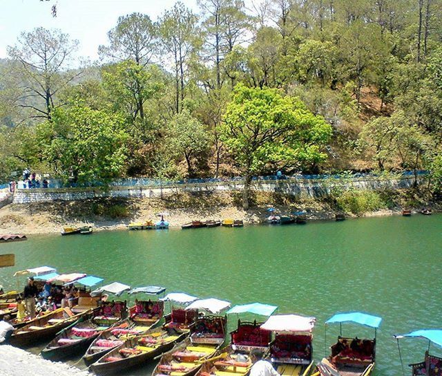
[[[26,350],[0,345],[0,376],[90,376],[85,370],[66,363],[52,362]]]

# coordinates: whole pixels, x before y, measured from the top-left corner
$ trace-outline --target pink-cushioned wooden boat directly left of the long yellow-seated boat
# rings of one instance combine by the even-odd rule
[[[153,303],[159,304],[161,308],[160,314],[155,317],[149,313],[147,313],[146,316],[142,316],[140,313],[136,312],[137,304],[139,303],[147,308],[151,306],[150,310],[153,308]],[[122,345],[126,339],[143,335],[148,332],[148,330],[151,330],[151,328],[157,325],[162,319],[163,307],[164,302],[162,301],[135,301],[135,306],[129,309],[129,317],[126,320],[122,321],[118,326],[102,332],[93,340],[83,357],[86,364],[91,364],[97,361],[106,353],[113,350],[113,348]]]

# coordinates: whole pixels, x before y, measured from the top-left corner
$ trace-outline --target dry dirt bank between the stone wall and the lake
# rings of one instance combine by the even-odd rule
[[[401,207],[417,210],[422,207],[440,209],[437,203],[410,192],[385,194],[384,205],[357,216],[386,216],[400,214]],[[125,229],[128,223],[156,220],[157,213],[166,212],[171,227],[180,227],[191,220],[242,219],[246,224],[260,223],[268,216],[267,209],[276,207],[280,213],[298,210],[307,212],[309,220],[334,219],[343,209],[331,197],[322,200],[294,198],[281,194],[256,192],[251,209],[244,211],[240,193],[176,194],[150,199],[96,199],[83,201],[54,201],[52,203],[12,204],[0,209],[0,234],[50,234],[66,226],[93,225],[96,231]],[[347,216],[356,216],[347,212]]]

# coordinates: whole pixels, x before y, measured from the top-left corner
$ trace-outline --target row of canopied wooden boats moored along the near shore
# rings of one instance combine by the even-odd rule
[[[55,283],[69,279],[68,283],[80,287],[102,281],[84,274],[54,274],[52,269],[35,279]],[[265,352],[283,376],[368,376],[374,370],[381,317],[363,312],[335,314],[326,321],[326,330],[333,323],[340,324],[341,331],[343,323],[358,323],[374,328],[374,338],[340,335],[329,357],[314,364],[314,317],[274,314],[276,306],[262,303],[230,308],[228,301],[184,293],[159,298],[165,290],[157,286],[131,289],[117,282],[92,292],[81,290],[72,308],[58,308],[22,323],[10,321],[15,330],[8,341],[24,348],[46,341],[41,356],[51,360],[83,355],[97,375],[117,374],[159,359],[153,376],[246,376],[252,366],[249,353],[256,348]],[[135,299],[131,306],[118,298],[124,292],[130,297],[150,297]],[[13,292],[0,296],[0,304],[10,303],[13,296]],[[164,314],[165,302],[169,303],[168,314]],[[224,310],[227,312],[222,314]],[[232,314],[238,315],[238,321],[226,344],[227,319]],[[244,321],[242,314],[254,314],[256,319]],[[257,319],[266,316],[267,321]],[[396,339],[401,337],[423,337],[442,346],[442,330],[418,330]],[[412,365],[412,375],[436,375],[429,371],[435,364],[441,369],[442,358],[426,352],[423,362]]]

